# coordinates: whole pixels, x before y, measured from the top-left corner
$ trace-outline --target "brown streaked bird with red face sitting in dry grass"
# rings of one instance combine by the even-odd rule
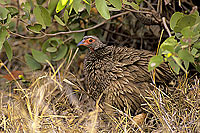
[[[89,49],[83,73],[93,99],[120,109],[129,106],[134,112],[141,108],[152,83],[152,74],[148,72],[152,52],[107,45],[96,36],[84,36],[77,46]],[[173,72],[163,63],[155,69],[155,77],[157,83],[167,83],[173,79]]]

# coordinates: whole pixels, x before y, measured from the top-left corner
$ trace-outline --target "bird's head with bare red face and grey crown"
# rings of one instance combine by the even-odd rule
[[[91,51],[94,51],[99,48],[105,47],[106,44],[102,43],[96,36],[85,36],[83,37],[83,40],[78,43],[77,46],[86,46]]]

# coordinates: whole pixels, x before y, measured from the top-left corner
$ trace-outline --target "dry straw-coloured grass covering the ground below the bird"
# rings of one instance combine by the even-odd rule
[[[77,50],[78,51],[78,50]],[[1,83],[0,131],[4,132],[197,132],[200,129],[200,85],[193,77],[175,87],[149,91],[141,125],[130,110],[104,112],[88,97],[80,79],[68,71],[76,53],[57,70],[32,72],[30,84]],[[51,64],[50,64],[51,66]],[[56,76],[58,75],[58,76]],[[2,80],[3,81],[3,80]],[[168,90],[168,91],[164,91]],[[170,91],[171,90],[171,91]],[[98,102],[97,102],[98,103]]]

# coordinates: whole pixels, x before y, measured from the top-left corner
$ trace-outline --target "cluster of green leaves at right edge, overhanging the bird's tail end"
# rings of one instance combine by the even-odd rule
[[[158,55],[151,58],[149,71],[168,62],[175,73],[180,69],[188,73],[191,63],[200,72],[200,16],[197,11],[189,15],[176,12],[170,20],[170,35],[160,46]]]

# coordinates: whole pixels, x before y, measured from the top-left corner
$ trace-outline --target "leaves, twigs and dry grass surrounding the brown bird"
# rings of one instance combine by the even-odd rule
[[[0,0],[0,131],[198,132],[200,17],[197,0]],[[151,50],[183,73],[149,113],[106,114],[84,86],[84,35]],[[163,89],[163,88],[162,88]],[[118,114],[116,118],[114,114]],[[137,124],[135,124],[135,122]]]

